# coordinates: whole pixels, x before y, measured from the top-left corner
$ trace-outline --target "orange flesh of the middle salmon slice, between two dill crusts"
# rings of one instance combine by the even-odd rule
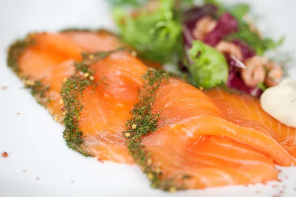
[[[147,67],[127,52],[116,52],[92,65],[98,82],[95,90],[83,91],[79,128],[83,132],[81,149],[87,155],[118,163],[132,163],[122,131],[138,102],[141,77]],[[104,83],[100,81],[104,80]]]

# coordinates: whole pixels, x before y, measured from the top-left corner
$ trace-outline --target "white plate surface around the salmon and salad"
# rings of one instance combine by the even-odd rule
[[[259,26],[270,30],[269,34],[285,34],[285,49],[296,51],[296,1],[250,1],[256,5],[254,11],[264,17]],[[5,49],[17,37],[32,31],[57,31],[67,27],[111,28],[110,9],[106,2],[0,0],[0,87],[8,87],[7,90],[0,89],[0,153],[6,151],[9,154],[8,158],[0,156],[0,197],[271,197],[281,190],[284,191],[282,197],[295,197],[295,167],[282,168],[279,178],[283,181],[279,184],[271,182],[266,186],[224,187],[170,195],[150,189],[148,181],[135,166],[101,164],[66,146],[63,127],[52,120],[7,68]],[[274,184],[280,186],[273,188]]]

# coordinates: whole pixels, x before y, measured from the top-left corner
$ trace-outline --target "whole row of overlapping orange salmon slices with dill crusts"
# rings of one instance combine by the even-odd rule
[[[116,51],[123,44],[106,31],[36,33],[27,41],[10,47],[8,63],[56,120],[64,118],[68,146],[138,164],[152,187],[265,183],[277,179],[275,164],[296,164],[294,129],[256,99],[170,78]]]

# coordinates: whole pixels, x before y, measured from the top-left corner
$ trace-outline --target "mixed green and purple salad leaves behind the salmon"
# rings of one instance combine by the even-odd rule
[[[194,31],[196,21],[205,15],[221,19],[225,16],[225,12],[228,12],[232,19],[226,17],[223,20],[226,23],[234,21],[235,29],[229,30],[233,28],[233,24],[231,27],[218,24],[211,32],[216,31],[216,34],[213,33],[208,38],[214,41],[215,39],[232,41],[241,47],[244,58],[254,55],[262,56],[266,51],[280,46],[284,38],[274,40],[262,37],[247,18],[250,11],[248,4],[225,5],[219,0],[204,0],[206,5],[195,7],[191,6],[193,1],[110,0],[109,2],[113,6],[113,17],[119,27],[121,39],[134,48],[143,60],[166,64],[176,63],[173,61],[177,58],[180,69],[183,69],[180,71],[187,76],[188,83],[207,89],[227,84],[237,89],[243,87],[248,94],[254,92],[252,88],[244,84],[237,69],[233,69],[233,66],[235,67],[235,64],[231,64],[233,59],[226,60],[225,56],[215,48],[201,41],[192,41],[192,31]],[[148,6],[151,5],[150,3],[152,6]],[[132,8],[133,12],[128,12],[126,6]],[[186,10],[188,7],[190,9]],[[188,12],[196,19],[186,19]],[[220,34],[223,34],[221,38],[216,36]],[[230,62],[227,63],[227,61]],[[232,81],[228,81],[228,76],[231,76],[229,79],[231,78]],[[267,87],[264,83],[260,83],[256,88],[264,91]]]

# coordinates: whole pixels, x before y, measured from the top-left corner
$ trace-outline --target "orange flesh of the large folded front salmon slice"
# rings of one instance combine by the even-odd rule
[[[143,137],[143,143],[151,153],[153,165],[161,169],[160,187],[265,183],[277,179],[274,163],[296,164],[267,129],[228,121],[214,103],[177,79],[171,78],[158,88],[153,112],[160,112],[161,119],[158,129]]]

